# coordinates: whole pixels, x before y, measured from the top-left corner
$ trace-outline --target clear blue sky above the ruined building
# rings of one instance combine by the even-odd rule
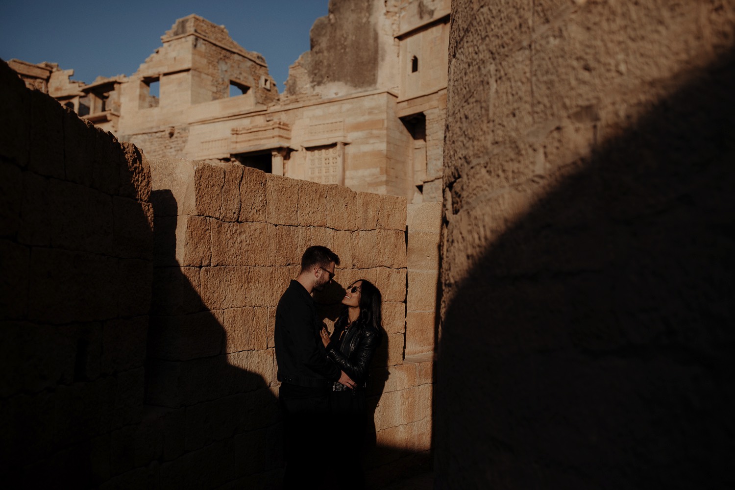
[[[56,62],[90,83],[130,75],[161,46],[177,18],[196,13],[268,62],[284,89],[288,65],[309,50],[309,29],[329,0],[0,1],[0,58]],[[121,10],[118,10],[120,8]]]

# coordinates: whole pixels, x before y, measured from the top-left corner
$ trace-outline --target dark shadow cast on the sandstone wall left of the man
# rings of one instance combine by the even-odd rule
[[[172,192],[154,190],[151,203],[155,250],[146,403],[168,419],[156,488],[277,488],[283,465],[277,399],[261,375],[230,364],[238,353],[226,353],[223,325],[205,310],[178,266]]]

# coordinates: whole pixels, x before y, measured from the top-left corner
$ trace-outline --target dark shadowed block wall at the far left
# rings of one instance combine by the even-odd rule
[[[143,420],[148,162],[4,62],[0,86],[0,475],[98,485]]]

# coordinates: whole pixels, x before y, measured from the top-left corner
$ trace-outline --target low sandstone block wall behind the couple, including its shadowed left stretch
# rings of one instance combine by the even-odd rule
[[[341,258],[325,323],[358,278],[383,298],[369,480],[429,464],[441,203],[149,162],[4,62],[0,87],[7,485],[278,488],[276,305],[313,244]]]

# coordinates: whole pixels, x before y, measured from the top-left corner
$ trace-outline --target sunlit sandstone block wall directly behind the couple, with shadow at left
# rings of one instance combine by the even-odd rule
[[[368,279],[384,299],[385,336],[370,381],[376,429],[370,478],[395,478],[401,461],[426,456],[431,356],[404,362],[405,199],[242,165],[161,159],[152,167],[157,265],[147,401],[183,413],[185,428],[179,430],[187,434],[187,454],[196,458],[208,444],[239,438],[265,456],[257,471],[233,470],[237,479],[273,483],[279,478],[276,305],[298,275],[303,251],[326,245],[341,259],[335,284],[316,297],[330,328],[344,288],[353,281]],[[430,328],[433,332],[433,324]],[[190,421],[191,413],[196,419]],[[214,424],[207,420],[218,425],[209,433],[200,427]],[[190,430],[201,436],[190,438]],[[192,472],[184,479],[196,476],[194,468],[181,470]]]

